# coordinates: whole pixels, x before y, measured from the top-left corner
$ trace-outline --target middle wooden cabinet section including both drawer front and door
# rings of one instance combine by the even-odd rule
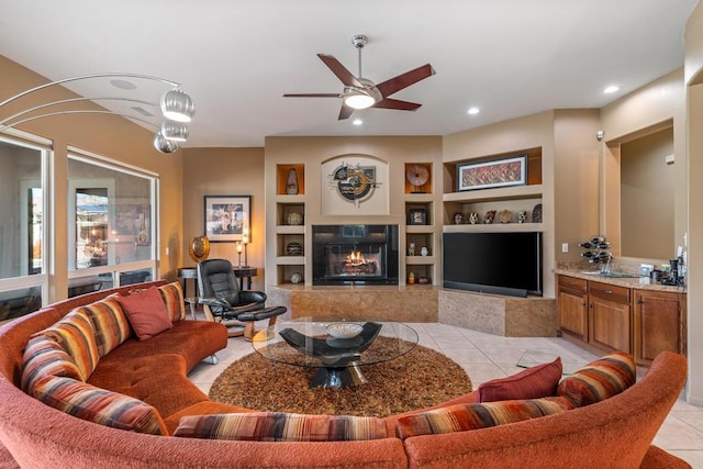
[[[589,344],[604,351],[632,351],[629,292],[589,282]]]

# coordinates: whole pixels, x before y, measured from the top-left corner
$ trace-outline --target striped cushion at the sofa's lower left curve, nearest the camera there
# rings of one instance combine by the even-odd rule
[[[64,377],[46,377],[36,383],[34,397],[75,417],[113,428],[153,435],[168,431],[156,409],[124,394]]]

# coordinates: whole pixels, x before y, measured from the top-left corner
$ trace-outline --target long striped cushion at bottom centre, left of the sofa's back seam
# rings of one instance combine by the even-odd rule
[[[348,442],[386,438],[381,418],[283,412],[191,415],[174,436],[249,442]]]

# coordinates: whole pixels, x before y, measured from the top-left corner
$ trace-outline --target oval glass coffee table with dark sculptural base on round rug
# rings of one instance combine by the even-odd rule
[[[401,357],[417,345],[417,333],[393,321],[339,321],[299,317],[281,321],[254,335],[263,357],[316,368],[313,388],[352,388],[367,382],[361,367]]]

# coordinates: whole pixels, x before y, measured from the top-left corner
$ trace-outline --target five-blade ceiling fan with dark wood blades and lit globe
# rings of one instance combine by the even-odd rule
[[[425,64],[414,70],[406,71],[393,77],[382,83],[376,85],[373,81],[361,76],[361,49],[368,42],[368,37],[356,35],[352,38],[352,44],[359,52],[359,76],[355,77],[345,68],[339,60],[332,55],[317,54],[317,57],[332,70],[334,75],[344,83],[344,91],[341,93],[287,93],[286,98],[342,98],[342,110],[339,120],[348,119],[356,109],[383,108],[400,111],[415,111],[422,104],[415,102],[401,101],[389,98],[389,96],[408,88],[427,77],[435,75],[432,65]]]

